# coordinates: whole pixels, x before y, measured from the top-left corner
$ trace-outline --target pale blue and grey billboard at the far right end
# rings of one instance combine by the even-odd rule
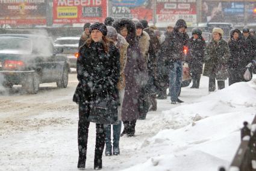
[[[246,6],[248,7],[246,9]],[[255,2],[245,1],[207,1],[202,2],[202,22],[254,23]]]

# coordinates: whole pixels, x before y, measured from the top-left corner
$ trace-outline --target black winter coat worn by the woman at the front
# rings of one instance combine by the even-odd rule
[[[90,102],[108,95],[118,101],[120,53],[116,46],[110,43],[106,53],[101,42],[92,42],[90,46],[82,46],[79,52],[76,63],[79,84],[73,101],[80,104],[80,108],[88,108]]]

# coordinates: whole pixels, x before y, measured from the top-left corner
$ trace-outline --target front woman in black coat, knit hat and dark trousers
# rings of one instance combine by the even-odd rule
[[[92,102],[110,96],[118,101],[117,82],[119,80],[119,50],[107,39],[107,27],[103,23],[90,26],[91,38],[80,48],[77,60],[79,81],[73,101],[79,104],[78,121],[78,168],[86,164],[88,129],[90,122],[96,122],[96,145],[94,169],[102,168],[102,152],[105,145],[105,132],[100,120],[90,120]],[[117,119],[117,113],[116,113]]]

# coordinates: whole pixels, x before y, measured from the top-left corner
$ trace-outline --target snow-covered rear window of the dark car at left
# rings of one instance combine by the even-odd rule
[[[0,37],[0,54],[30,54],[32,43],[28,39]]]

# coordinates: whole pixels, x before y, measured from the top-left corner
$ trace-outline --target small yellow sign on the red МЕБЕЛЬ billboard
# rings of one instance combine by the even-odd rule
[[[77,7],[57,7],[57,17],[59,19],[77,18]]]

